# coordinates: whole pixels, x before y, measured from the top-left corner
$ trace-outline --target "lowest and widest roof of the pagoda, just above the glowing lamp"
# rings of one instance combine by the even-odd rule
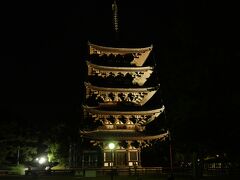
[[[146,134],[135,130],[94,130],[80,131],[84,138],[93,140],[115,140],[115,141],[134,141],[134,140],[163,140],[168,136],[168,132],[161,134]]]

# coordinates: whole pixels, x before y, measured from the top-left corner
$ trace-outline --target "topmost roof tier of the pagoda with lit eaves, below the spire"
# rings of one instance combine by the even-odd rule
[[[133,60],[130,62],[131,65],[142,66],[146,59],[148,58],[150,52],[152,51],[153,46],[145,47],[145,48],[115,48],[115,47],[105,47],[99,46],[95,44],[88,43],[89,53],[98,54],[99,56],[103,55],[126,55],[132,54]]]

